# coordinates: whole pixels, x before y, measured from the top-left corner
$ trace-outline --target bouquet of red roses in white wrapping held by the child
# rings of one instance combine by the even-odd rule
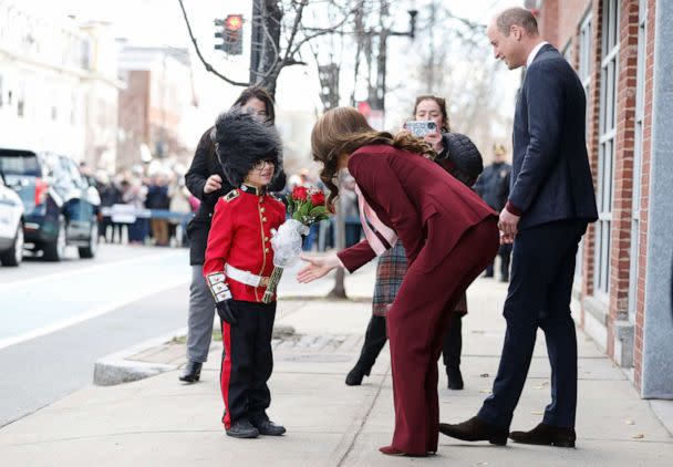
[[[309,235],[311,225],[328,219],[330,210],[320,189],[298,186],[288,197],[288,214],[290,219],[272,232],[273,272],[261,299],[263,303],[273,299],[283,268],[293,266],[299,260],[302,236]]]

